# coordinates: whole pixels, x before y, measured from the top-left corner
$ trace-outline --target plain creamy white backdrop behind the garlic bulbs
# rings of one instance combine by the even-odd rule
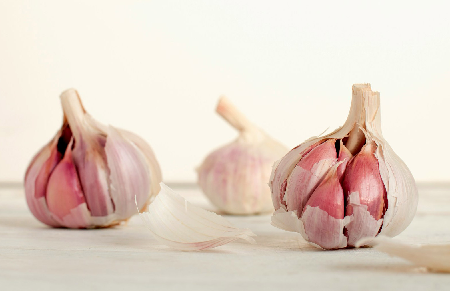
[[[363,2],[1,1],[0,181],[22,181],[70,87],[144,137],[165,181],[191,182],[237,135],[220,94],[293,147],[342,125],[363,82],[416,180],[449,181],[449,9]]]

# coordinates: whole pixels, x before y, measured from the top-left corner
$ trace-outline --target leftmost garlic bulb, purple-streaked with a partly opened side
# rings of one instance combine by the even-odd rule
[[[61,94],[63,126],[25,174],[28,207],[55,227],[105,227],[144,208],[159,191],[153,151],[131,132],[104,126],[86,113],[74,89]]]

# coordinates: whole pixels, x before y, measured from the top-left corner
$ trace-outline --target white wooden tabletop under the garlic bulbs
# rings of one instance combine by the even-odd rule
[[[214,210],[196,187],[174,190]],[[419,194],[417,214],[397,239],[450,242],[450,185],[421,184]],[[270,215],[225,217],[252,229],[257,245],[175,251],[139,216],[108,229],[53,229],[31,215],[22,187],[3,187],[0,290],[450,290],[450,274],[372,248],[321,251],[270,225]]]

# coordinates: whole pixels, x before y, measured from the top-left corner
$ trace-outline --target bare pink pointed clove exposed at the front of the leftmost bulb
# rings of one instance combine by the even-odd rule
[[[72,144],[73,138],[67,146],[63,159],[50,175],[45,196],[49,211],[61,220],[69,215],[72,209],[85,203],[83,190],[73,164]]]

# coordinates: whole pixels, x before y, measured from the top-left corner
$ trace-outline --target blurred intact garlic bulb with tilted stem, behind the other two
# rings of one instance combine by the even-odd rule
[[[223,212],[273,211],[267,181],[273,162],[288,149],[250,123],[225,97],[216,111],[238,129],[239,137],[206,157],[197,170],[198,184]]]

